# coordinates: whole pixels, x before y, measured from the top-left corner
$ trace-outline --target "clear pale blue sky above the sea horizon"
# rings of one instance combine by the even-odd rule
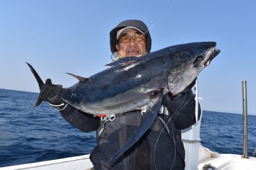
[[[110,61],[109,32],[126,19],[150,28],[152,50],[216,41],[221,53],[199,75],[208,111],[256,114],[256,1],[0,1],[0,88],[39,92],[25,62],[64,87]]]

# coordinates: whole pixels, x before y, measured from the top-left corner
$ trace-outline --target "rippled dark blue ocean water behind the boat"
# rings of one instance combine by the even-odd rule
[[[69,125],[37,93],[0,89],[0,167],[90,154],[95,132]],[[201,143],[212,151],[243,154],[242,114],[203,111]],[[256,147],[256,116],[248,117],[248,155]]]

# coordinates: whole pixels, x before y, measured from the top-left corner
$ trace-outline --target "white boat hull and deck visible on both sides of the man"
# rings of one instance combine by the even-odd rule
[[[243,170],[256,169],[256,158],[242,158],[242,155],[218,154],[212,152],[203,146],[199,152],[199,170],[217,168],[218,170]],[[14,165],[3,167],[0,170],[93,170],[93,164],[90,162],[89,155],[75,156],[71,158],[49,160],[44,162]]]

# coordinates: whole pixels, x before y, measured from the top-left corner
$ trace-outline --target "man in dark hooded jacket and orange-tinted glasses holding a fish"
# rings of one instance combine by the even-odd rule
[[[119,23],[110,32],[110,49],[115,57],[114,61],[150,53],[151,37],[147,26],[141,20]],[[132,63],[133,59],[129,61],[127,58],[127,63],[129,62]],[[88,114],[63,101],[60,98],[62,86],[52,84],[51,79],[47,79],[40,88],[40,97],[80,130],[97,130],[97,146],[90,154],[94,169],[184,169],[185,150],[181,141],[181,129],[196,122],[195,100],[191,91],[194,84],[195,81],[179,94],[165,94],[160,101],[160,111],[150,128],[111,163],[112,156],[125,145],[141,124],[147,105],[119,114]]]

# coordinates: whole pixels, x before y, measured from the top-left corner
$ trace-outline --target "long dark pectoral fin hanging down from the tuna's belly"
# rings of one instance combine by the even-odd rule
[[[120,156],[122,156],[123,152],[125,152],[127,149],[133,146],[134,143],[137,142],[144,133],[146,133],[146,131],[150,128],[150,126],[154,122],[157,114],[159,113],[159,109],[161,107],[162,101],[163,101],[163,89],[154,91],[150,95],[149,103],[147,105],[147,110],[146,110],[146,113],[144,113],[143,115],[141,124],[135,130],[134,134],[131,135],[131,137],[128,139],[125,145],[122,146],[122,148],[120,148],[120,150],[117,151],[112,156],[112,158],[108,160],[108,162],[105,164],[106,167],[109,167],[109,165],[113,164],[118,158],[120,158]]]

